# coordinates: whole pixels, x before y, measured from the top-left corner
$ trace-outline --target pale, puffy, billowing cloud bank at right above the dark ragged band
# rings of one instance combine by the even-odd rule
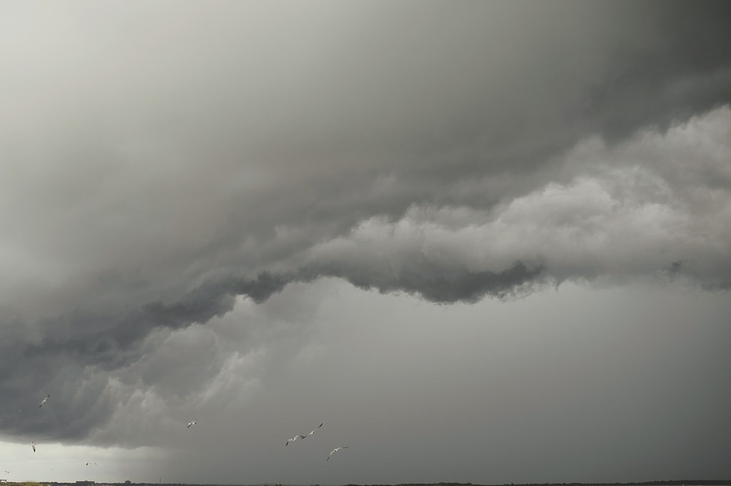
[[[395,222],[370,217],[303,261],[385,279],[417,268],[504,271],[521,261],[545,264],[559,281],[656,277],[679,263],[702,284],[729,285],[731,185],[714,188],[724,180],[704,177],[731,171],[729,127],[724,107],[615,147],[588,139],[562,158],[564,171],[574,172],[567,182],[492,209],[414,205]]]

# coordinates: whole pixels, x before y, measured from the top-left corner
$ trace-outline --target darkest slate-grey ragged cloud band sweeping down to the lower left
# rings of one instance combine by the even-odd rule
[[[522,263],[515,263],[501,272],[465,271],[445,276],[439,271],[427,272],[422,268],[403,271],[390,279],[371,274],[367,269],[343,271],[340,266],[322,269],[311,266],[288,277],[260,274],[251,280],[208,282],[180,301],[146,304],[117,321],[115,315],[74,313],[62,320],[45,323],[49,331],[38,342],[25,344],[16,352],[4,353],[6,366],[2,377],[12,398],[6,401],[0,420],[10,424],[7,430],[10,433],[45,435],[44,431],[51,430],[54,432],[49,439],[81,439],[92,428],[104,426],[113,412],[109,396],[100,393],[105,388],[106,378],[85,376],[84,369],[91,366],[99,371],[113,371],[131,366],[150,351],[140,344],[156,329],[175,330],[208,323],[214,317],[223,317],[232,311],[235,298],[245,296],[261,303],[281,291],[287,283],[340,277],[360,288],[377,288],[382,293],[404,291],[429,301],[453,303],[474,302],[485,295],[506,296],[521,284],[539,277],[541,271],[541,268],[527,269]],[[55,328],[64,331],[58,332]],[[84,332],[69,333],[69,328]],[[29,367],[29,363],[33,366]],[[81,385],[75,381],[77,379],[81,380]],[[18,386],[13,387],[10,382],[16,382]],[[34,410],[29,397],[23,393],[28,382],[34,382],[39,389],[53,387],[61,392],[54,393],[54,402],[61,404],[54,406],[55,414],[34,413],[39,411]],[[69,400],[69,396],[73,399]],[[95,413],[88,414],[87,407]],[[26,421],[26,417],[29,420]],[[64,427],[58,427],[59,423],[65,424]]]

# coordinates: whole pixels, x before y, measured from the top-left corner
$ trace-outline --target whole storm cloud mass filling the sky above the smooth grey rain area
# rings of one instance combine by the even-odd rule
[[[731,286],[727,2],[2,8],[13,438],[243,403],[304,352],[292,286]]]

